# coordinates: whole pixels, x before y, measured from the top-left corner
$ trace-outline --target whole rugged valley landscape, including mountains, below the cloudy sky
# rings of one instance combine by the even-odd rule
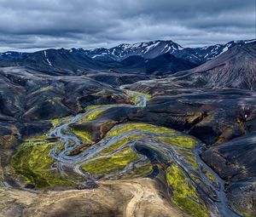
[[[255,216],[256,43],[146,45],[0,60],[0,216]]]

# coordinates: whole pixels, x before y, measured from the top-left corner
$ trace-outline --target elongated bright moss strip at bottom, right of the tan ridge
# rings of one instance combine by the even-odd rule
[[[172,164],[166,171],[167,184],[172,187],[172,202],[188,214],[196,217],[207,217],[208,211],[201,203],[195,186],[189,184],[183,170]]]

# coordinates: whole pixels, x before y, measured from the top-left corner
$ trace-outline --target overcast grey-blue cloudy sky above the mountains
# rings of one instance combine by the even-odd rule
[[[0,51],[255,38],[255,0],[0,0]]]

